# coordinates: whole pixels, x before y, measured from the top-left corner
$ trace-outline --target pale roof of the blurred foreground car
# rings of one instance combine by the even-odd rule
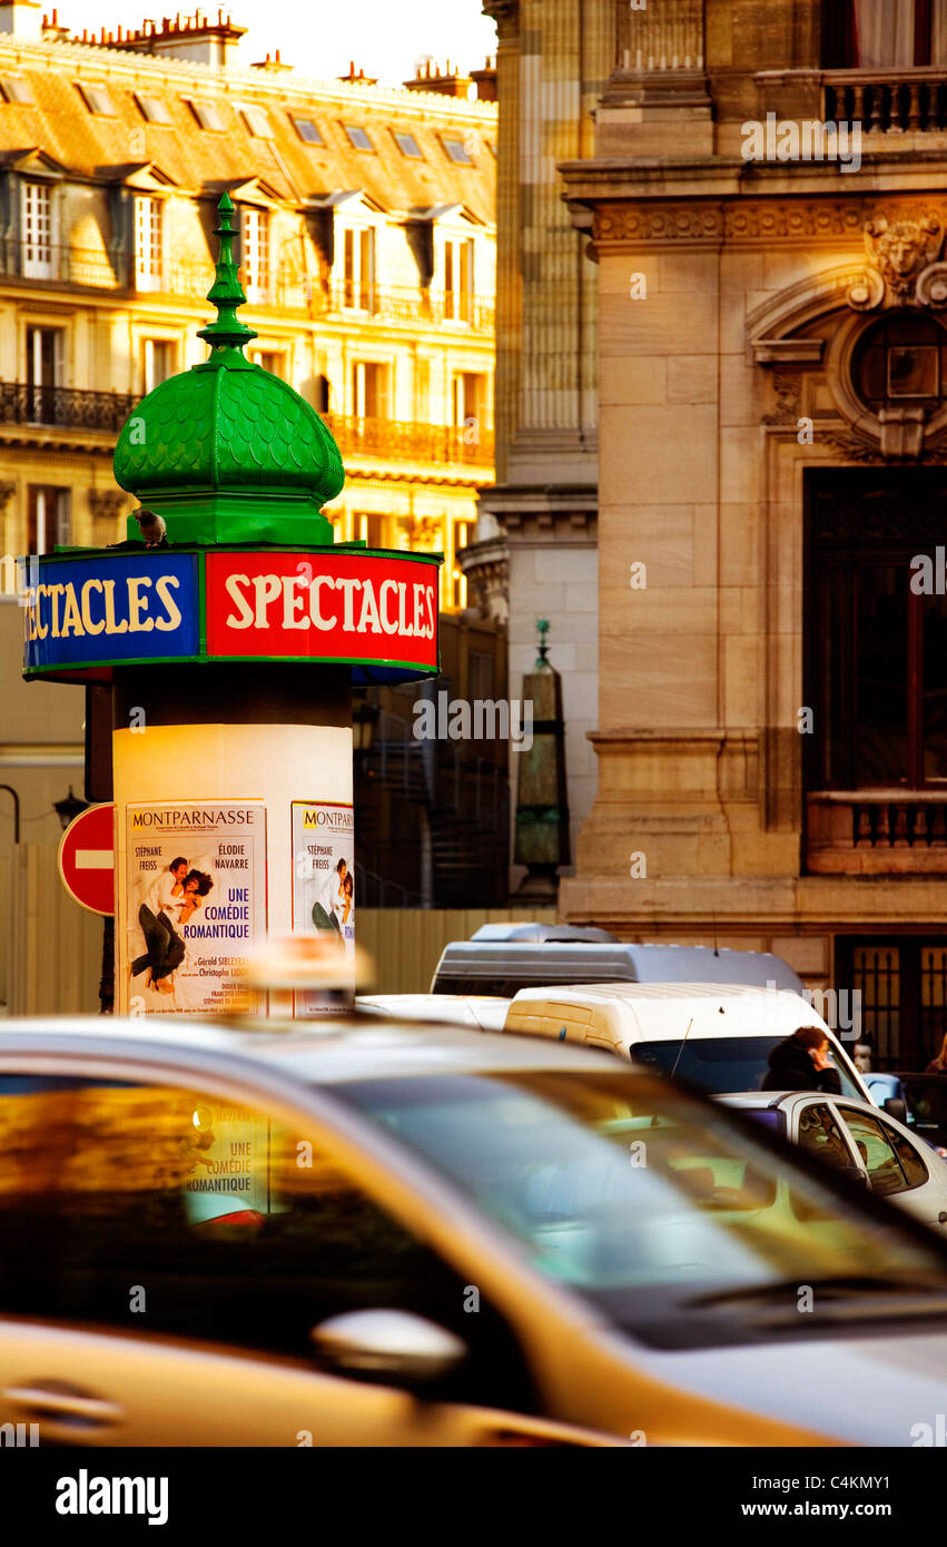
[[[266,1067],[303,1084],[388,1080],[407,1075],[503,1074],[512,1069],[597,1069],[602,1055],[580,1046],[535,1036],[494,1035],[463,1026],[413,1024],[376,1018],[325,1016],[313,1023],[257,1021],[246,1029],[172,1015],[0,1021],[3,1055],[90,1054],[132,1063],[167,1061],[207,1067],[210,1054],[224,1064]]]

